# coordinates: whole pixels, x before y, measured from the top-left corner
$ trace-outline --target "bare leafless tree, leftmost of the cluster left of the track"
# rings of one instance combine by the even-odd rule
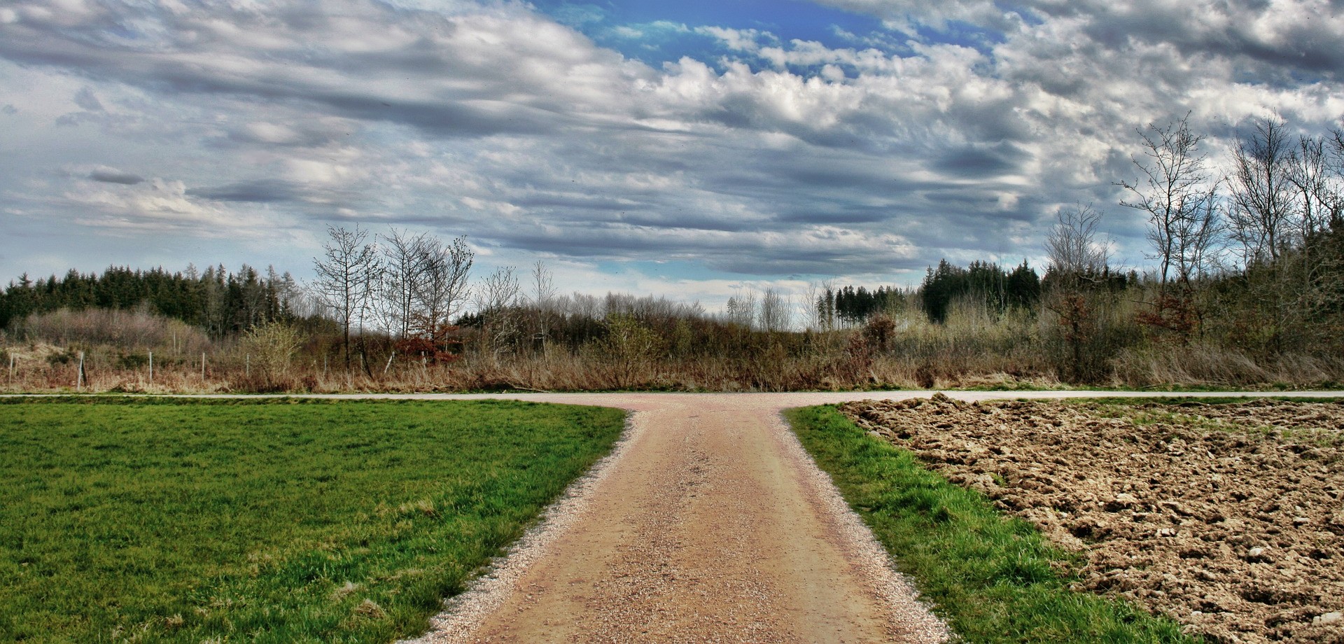
[[[329,239],[323,245],[323,257],[313,258],[314,282],[319,297],[341,325],[345,368],[349,368],[351,327],[363,324],[374,285],[382,274],[378,246],[366,243],[367,230],[327,227]]]

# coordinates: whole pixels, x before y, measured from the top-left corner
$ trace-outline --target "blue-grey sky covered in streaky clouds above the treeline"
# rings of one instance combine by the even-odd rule
[[[312,274],[328,225],[715,308],[1039,262],[1136,128],[1344,116],[1344,1],[4,0],[0,281]]]

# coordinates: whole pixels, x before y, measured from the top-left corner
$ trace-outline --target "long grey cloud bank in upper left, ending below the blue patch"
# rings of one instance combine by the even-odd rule
[[[524,32],[515,34],[512,43],[489,44],[470,38],[456,42],[452,35],[461,27],[438,13],[379,3],[340,4],[352,13],[344,17],[366,22],[363,30],[351,32],[349,27],[336,27],[333,15],[296,7],[276,12],[281,19],[278,26],[273,20],[276,16],[226,7],[171,12],[112,3],[83,20],[58,19],[50,12],[46,19],[26,13],[16,24],[3,26],[0,56],[155,91],[309,105],[329,114],[409,125],[435,136],[526,136],[593,125],[571,114],[577,106],[574,98],[582,98],[583,87],[566,83],[563,78],[570,63],[587,61],[564,61],[563,51],[555,52],[560,56],[558,75],[530,74],[517,65],[528,54],[552,54],[535,51],[540,47],[536,43],[544,39],[530,42]],[[499,19],[504,17],[524,20],[528,15],[512,9]],[[249,50],[245,43],[219,32],[211,24],[216,20],[231,23],[242,32],[255,30],[259,39],[284,39],[293,44],[266,43],[266,50]],[[546,26],[535,16],[531,22]],[[406,38],[403,46],[390,51],[368,52],[358,46],[340,48],[343,40],[374,38],[382,30],[394,28],[411,30],[419,36]],[[341,34],[343,30],[347,32]],[[246,42],[246,38],[237,40]],[[331,44],[327,48],[301,44],[309,42]],[[591,51],[607,63],[620,61],[614,52]],[[391,78],[423,81],[423,86],[380,87]],[[513,98],[505,99],[507,95]],[[89,87],[77,93],[75,102],[86,110],[102,109]]]

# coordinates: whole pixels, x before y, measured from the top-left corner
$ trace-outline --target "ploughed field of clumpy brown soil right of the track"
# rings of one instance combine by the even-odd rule
[[[1344,403],[841,409],[1081,553],[1082,589],[1216,643],[1344,643]]]

